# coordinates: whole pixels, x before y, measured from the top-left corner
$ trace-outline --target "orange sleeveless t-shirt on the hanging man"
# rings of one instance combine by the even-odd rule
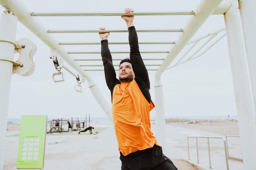
[[[115,85],[112,115],[119,151],[124,156],[157,144],[149,120],[149,112],[154,107],[152,100],[148,103],[135,80]]]

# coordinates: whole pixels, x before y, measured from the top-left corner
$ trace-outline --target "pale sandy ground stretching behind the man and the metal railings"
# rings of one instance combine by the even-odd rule
[[[89,133],[78,134],[77,131],[63,134],[47,134],[45,144],[44,170],[120,170],[121,161],[112,124],[93,124],[94,132],[99,130],[97,135]],[[97,127],[98,126],[98,127]],[[154,132],[155,124],[151,124]],[[18,123],[8,123],[7,137],[4,153],[4,170],[16,170],[18,153]],[[195,145],[191,140],[191,160],[188,161],[188,136],[219,136],[239,135],[238,122],[234,120],[211,120],[211,122],[191,123],[169,122],[166,124],[167,146],[164,154],[169,157],[179,170],[196,170],[198,167],[208,169],[208,159],[200,158],[200,166],[196,164]],[[225,158],[223,158],[223,142],[212,141],[212,159],[223,161],[213,163],[213,169],[225,169]],[[201,150],[207,151],[205,141],[202,141]],[[236,144],[235,144],[236,145]],[[231,146],[231,149],[236,149]],[[201,155],[207,155],[207,152]],[[241,153],[234,151],[237,157]],[[221,156],[220,156],[221,155]],[[215,158],[220,157],[220,158]],[[218,160],[220,159],[220,160]],[[189,163],[190,162],[190,163]],[[232,161],[229,161],[230,166]],[[233,163],[234,164],[234,163]],[[222,166],[222,167],[218,167]],[[235,166],[243,169],[243,163],[235,163]],[[207,168],[208,167],[208,168]]]

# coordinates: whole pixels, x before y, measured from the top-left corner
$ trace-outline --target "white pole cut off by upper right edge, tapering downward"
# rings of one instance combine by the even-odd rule
[[[243,3],[242,3],[243,2]],[[238,0],[256,112],[256,0]]]

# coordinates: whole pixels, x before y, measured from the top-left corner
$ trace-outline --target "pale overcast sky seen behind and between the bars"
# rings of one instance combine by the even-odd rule
[[[122,12],[131,7],[135,12],[141,11],[191,11],[195,10],[199,0],[22,0],[31,12]],[[72,2],[72,3],[71,3]],[[107,3],[106,3],[107,2]],[[2,11],[4,9],[2,8]],[[135,27],[139,29],[184,28],[190,16],[135,16]],[[112,17],[37,17],[47,29],[127,29],[120,16]],[[222,15],[212,15],[200,28],[193,38],[206,35],[224,28]],[[46,30],[45,30],[46,31]],[[175,41],[182,33],[138,33],[139,41]],[[85,41],[100,42],[97,33],[52,34],[60,42]],[[88,83],[82,84],[83,93],[76,92],[76,78],[63,70],[65,81],[54,83],[52,74],[56,72],[53,62],[49,59],[50,50],[40,39],[18,22],[16,39],[29,38],[37,46],[34,56],[36,70],[28,77],[13,74],[9,100],[8,118],[20,118],[21,115],[42,115],[53,117],[106,117],[97,101],[92,96]],[[218,36],[216,36],[218,37]],[[192,38],[192,39],[193,39]],[[109,41],[127,41],[128,33],[111,33]],[[213,39],[214,41],[214,39]],[[213,42],[211,41],[211,42]],[[201,43],[202,45],[202,43]],[[172,45],[140,45],[141,51],[169,51]],[[189,53],[193,54],[197,47]],[[100,45],[65,46],[67,51],[100,51]],[[188,47],[184,48],[184,53]],[[128,51],[127,45],[112,45],[111,51]],[[157,55],[157,56],[156,56]],[[113,54],[113,58],[125,58],[127,54]],[[178,57],[182,56],[180,54]],[[100,54],[70,54],[72,58],[100,58]],[[142,54],[143,58],[164,58],[165,54]],[[178,59],[177,57],[177,59]],[[18,55],[15,55],[15,59]],[[175,61],[177,61],[177,59]],[[119,61],[118,61],[119,62]],[[114,63],[117,64],[118,62]],[[101,61],[96,62],[102,64]],[[145,61],[145,64],[161,63]],[[86,64],[81,62],[81,64]],[[72,68],[65,63],[64,65]],[[85,68],[86,69],[86,68]],[[92,68],[88,68],[92,69]],[[75,71],[74,71],[75,72]],[[97,83],[101,93],[111,106],[110,91],[108,90],[103,72],[88,72]],[[154,92],[155,71],[149,71],[150,94],[155,101]],[[227,116],[236,115],[234,89],[232,85],[231,68],[227,39],[224,37],[213,48],[201,57],[166,70],[162,75],[164,85],[165,115],[168,116]],[[151,116],[155,110],[151,111]]]

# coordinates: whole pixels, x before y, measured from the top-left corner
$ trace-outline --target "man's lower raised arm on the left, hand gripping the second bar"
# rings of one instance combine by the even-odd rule
[[[99,28],[99,29],[105,30],[105,28]],[[112,63],[112,56],[108,48],[109,35],[110,33],[99,33],[99,37],[101,38],[101,58],[104,65],[105,79],[106,79],[108,89],[110,89],[112,94],[113,88],[117,83],[119,83],[119,80],[117,79],[117,74],[115,72],[115,68]]]

